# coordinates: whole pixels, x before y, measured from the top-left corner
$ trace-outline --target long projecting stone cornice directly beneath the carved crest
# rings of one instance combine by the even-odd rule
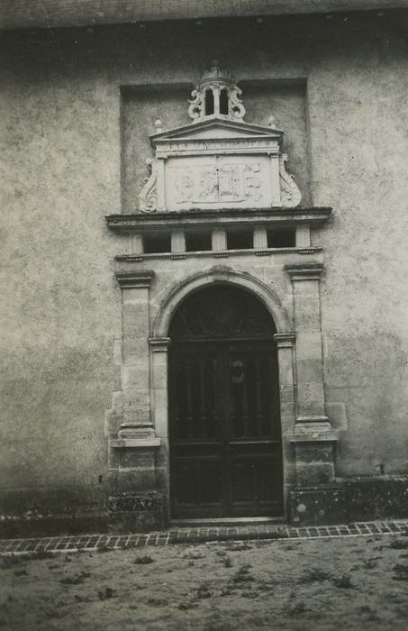
[[[322,225],[331,216],[331,208],[265,208],[237,210],[184,210],[177,212],[134,213],[132,215],[107,215],[108,227],[119,233],[142,232],[153,228],[194,226],[199,224],[309,224]]]

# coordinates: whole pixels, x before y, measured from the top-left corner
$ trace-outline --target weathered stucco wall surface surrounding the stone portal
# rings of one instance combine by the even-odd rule
[[[113,256],[125,251],[104,215],[131,211],[132,160],[148,157],[156,118],[165,128],[186,122],[189,96],[177,89],[160,105],[155,93],[139,112],[131,96],[141,90],[129,87],[188,86],[213,57],[240,81],[267,81],[262,107],[275,105],[277,126],[281,114],[297,146],[296,180],[313,205],[333,207],[313,243],[324,248],[324,380],[340,429],[338,474],[408,472],[407,49],[397,14],[3,35],[5,512],[41,498],[54,510],[104,508],[104,414],[120,389],[122,335]],[[252,89],[247,120],[266,122]],[[168,278],[177,265],[168,261]]]

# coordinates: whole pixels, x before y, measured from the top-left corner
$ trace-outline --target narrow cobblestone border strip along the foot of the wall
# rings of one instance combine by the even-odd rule
[[[408,520],[357,522],[340,526],[220,526],[173,528],[149,535],[73,535],[36,539],[2,539],[0,556],[24,553],[74,553],[143,548],[148,545],[201,544],[261,539],[329,539],[332,537],[408,534]]]

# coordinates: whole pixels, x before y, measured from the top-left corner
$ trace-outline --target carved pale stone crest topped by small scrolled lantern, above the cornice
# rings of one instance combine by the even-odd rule
[[[155,157],[139,197],[142,213],[192,209],[287,208],[301,193],[286,171],[281,152],[284,133],[245,123],[241,90],[214,61],[192,92],[193,119],[150,136]]]

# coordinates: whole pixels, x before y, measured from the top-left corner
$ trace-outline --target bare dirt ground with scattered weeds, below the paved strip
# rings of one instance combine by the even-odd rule
[[[0,559],[0,628],[408,628],[408,536],[168,545]]]

